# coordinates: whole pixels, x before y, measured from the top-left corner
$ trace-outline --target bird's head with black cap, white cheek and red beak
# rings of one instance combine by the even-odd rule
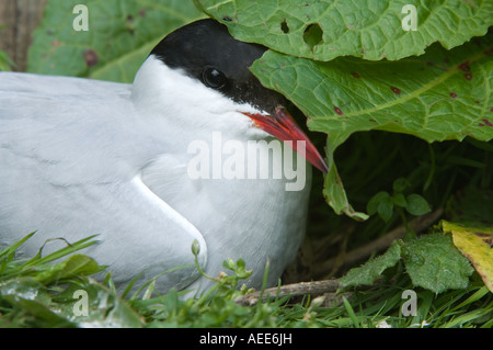
[[[321,171],[328,167],[286,109],[286,99],[266,89],[249,67],[266,47],[234,39],[214,20],[190,23],[164,37],[134,81],[133,100],[162,110],[171,126],[234,131],[246,138],[274,136],[305,142],[305,157]],[[297,149],[300,151],[299,149]]]

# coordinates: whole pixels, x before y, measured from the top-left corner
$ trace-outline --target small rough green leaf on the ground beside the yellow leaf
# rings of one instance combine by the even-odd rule
[[[465,289],[474,269],[442,233],[429,234],[408,241],[403,247],[405,270],[416,286],[442,293]]]

